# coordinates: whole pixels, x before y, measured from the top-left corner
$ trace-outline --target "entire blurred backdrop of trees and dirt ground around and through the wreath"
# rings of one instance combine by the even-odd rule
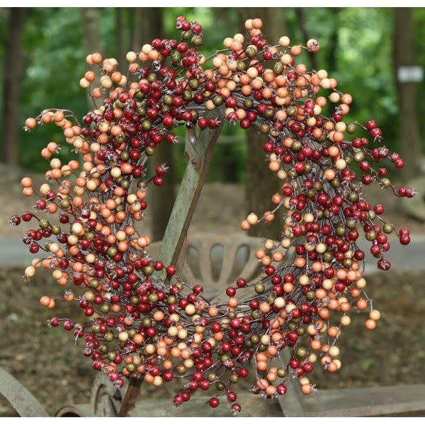
[[[305,44],[317,38],[322,50],[305,60],[310,67],[327,69],[338,79],[339,89],[353,95],[351,120],[377,120],[385,145],[401,152],[406,167],[402,172],[390,169],[396,185],[422,176],[414,212],[421,210],[425,220],[425,81],[397,79],[399,67],[425,67],[425,8],[0,8],[0,365],[52,414],[63,404],[88,401],[94,371],[81,358],[81,345],[71,344],[72,336],[45,326],[51,313],[37,300],[52,294],[52,280],[40,273],[22,283],[20,261],[29,261],[30,254],[18,235],[30,227],[9,227],[7,221],[34,202],[22,196],[21,177],[29,174],[35,186],[44,182],[42,147],[55,140],[62,144],[64,159],[74,159],[74,154],[54,125],[31,135],[23,125],[45,108],[68,108],[84,115],[89,103],[79,79],[87,69],[87,53],[98,50],[125,62],[128,50],[138,51],[153,38],[176,37],[179,15],[203,25],[205,56],[219,49],[225,37],[242,31],[246,18],[262,18],[268,40],[289,35],[294,44]],[[225,125],[191,232],[237,237],[246,212],[268,210],[268,194],[277,179],[264,166],[261,145],[255,132]],[[162,239],[183,175],[183,150],[184,143],[172,149],[164,144],[155,155],[157,162],[171,164],[174,170],[164,186],[149,193],[147,234],[157,240]],[[390,191],[375,185],[365,191],[372,202],[385,205],[389,222],[407,225],[414,238],[408,247],[393,244],[394,270],[368,276],[368,294],[382,311],[382,324],[366,337],[362,320],[353,321],[341,339],[347,366],[338,374],[319,372],[320,388],[425,382],[425,368],[417,367],[425,364],[425,222],[401,212]],[[254,232],[278,237],[281,223],[274,220],[266,232],[259,226]],[[375,266],[374,260],[370,263]],[[68,305],[61,314],[81,319]],[[143,387],[142,396],[171,397],[164,387],[162,392]],[[275,410],[268,407],[268,414],[280,414],[276,400],[273,403]],[[259,408],[259,403],[252,407]],[[0,396],[0,416],[9,414],[13,409]]]

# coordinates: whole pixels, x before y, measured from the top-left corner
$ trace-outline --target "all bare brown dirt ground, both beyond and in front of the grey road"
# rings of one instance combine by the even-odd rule
[[[24,227],[10,227],[8,217],[30,209],[33,200],[21,196],[19,181],[26,175],[0,167],[0,235],[21,235]],[[42,182],[42,176],[33,176]],[[425,224],[400,216],[397,200],[389,192],[368,188],[371,199],[379,196],[386,216],[397,226],[407,225],[413,233],[424,234]],[[234,232],[244,213],[244,188],[222,183],[205,185],[191,225],[191,232]],[[147,227],[149,227],[149,218]],[[91,362],[81,356],[82,344],[74,346],[72,333],[46,326],[51,312],[40,307],[41,295],[59,294],[47,273],[39,273],[30,283],[22,279],[20,267],[0,268],[0,365],[33,392],[50,414],[64,404],[88,402],[96,373]],[[379,273],[370,276],[368,295],[381,310],[382,320],[375,331],[363,326],[365,317],[353,317],[340,340],[343,367],[339,373],[314,371],[319,388],[362,385],[398,385],[425,382],[425,286],[419,272]],[[60,317],[76,316],[63,305]],[[77,311],[79,314],[79,311]],[[246,390],[248,383],[244,384]],[[168,397],[170,390],[145,387],[147,397]],[[0,416],[14,414],[0,396]]]

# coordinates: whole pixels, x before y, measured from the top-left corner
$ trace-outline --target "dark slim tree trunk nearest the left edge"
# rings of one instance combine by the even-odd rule
[[[22,77],[23,8],[11,8],[8,21],[8,40],[4,57],[3,81],[3,161],[18,164],[19,89]]]

